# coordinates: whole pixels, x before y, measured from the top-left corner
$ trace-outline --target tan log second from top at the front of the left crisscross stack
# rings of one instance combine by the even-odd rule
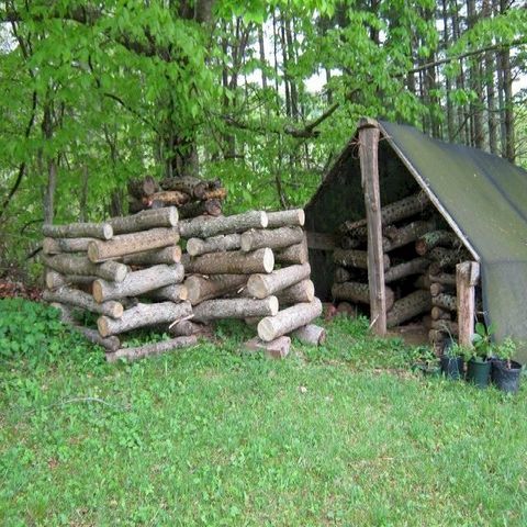
[[[108,242],[97,240],[88,244],[88,258],[93,262],[104,261],[110,258],[168,247],[178,242],[177,228],[153,228],[141,233],[122,234]]]

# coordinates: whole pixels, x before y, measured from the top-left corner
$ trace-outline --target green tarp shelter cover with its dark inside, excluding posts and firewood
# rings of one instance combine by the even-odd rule
[[[382,206],[421,188],[480,262],[485,322],[494,323],[497,338],[527,341],[527,172],[411,126],[377,126]],[[358,146],[356,135],[305,208],[312,278],[323,300],[330,300],[334,269],[324,240],[344,221],[366,215]]]

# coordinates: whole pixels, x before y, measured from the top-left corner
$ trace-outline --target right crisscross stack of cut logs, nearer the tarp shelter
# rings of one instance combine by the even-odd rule
[[[301,210],[181,221],[184,287],[193,307],[192,322],[181,327],[200,333],[215,319],[245,319],[258,332],[247,347],[279,357],[289,352],[287,335],[295,330],[300,339],[323,341],[324,329],[310,324],[322,304],[310,280],[303,224]]]

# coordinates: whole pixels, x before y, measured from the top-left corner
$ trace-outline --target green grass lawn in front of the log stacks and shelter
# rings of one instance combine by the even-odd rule
[[[363,321],[327,328],[283,361],[242,356],[237,324],[131,365],[68,334],[2,359],[0,525],[527,525],[525,388],[426,380]]]

